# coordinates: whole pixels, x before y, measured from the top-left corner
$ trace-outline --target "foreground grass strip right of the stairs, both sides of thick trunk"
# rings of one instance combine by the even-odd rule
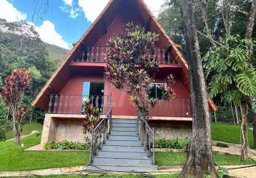
[[[175,166],[182,165],[186,159],[184,152],[156,152],[156,164],[158,166]],[[214,159],[217,164],[220,165],[245,165],[256,164],[252,159],[247,159],[240,162],[240,156],[220,154],[215,152]]]

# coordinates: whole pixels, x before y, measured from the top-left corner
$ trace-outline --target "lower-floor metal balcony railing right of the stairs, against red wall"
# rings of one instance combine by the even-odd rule
[[[149,116],[192,117],[191,99],[173,98],[170,100],[159,100],[157,106],[149,111]]]

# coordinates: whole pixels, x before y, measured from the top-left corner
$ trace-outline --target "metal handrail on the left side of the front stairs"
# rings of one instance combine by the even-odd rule
[[[101,150],[103,144],[109,139],[112,127],[112,94],[109,95],[109,103],[107,103],[107,114],[92,130],[92,140],[90,147],[89,162],[92,163],[97,150]]]

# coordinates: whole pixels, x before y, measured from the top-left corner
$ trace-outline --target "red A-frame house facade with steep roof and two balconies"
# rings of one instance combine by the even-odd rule
[[[47,111],[44,120],[41,147],[46,142],[73,140],[82,142],[81,103],[90,98],[93,105],[107,113],[112,103],[112,117],[136,119],[137,108],[129,101],[129,94],[117,90],[105,78],[107,66],[107,41],[124,31],[126,23],[142,24],[147,31],[159,34],[156,43],[159,63],[149,95],[160,97],[159,84],[173,74],[172,86],[176,97],[160,101],[149,113],[149,125],[155,128],[156,137],[189,137],[192,129],[192,105],[189,93],[189,74],[187,61],[177,46],[165,33],[142,0],[112,0],[92,23],[92,26],[74,43],[67,58],[36,96],[32,105]],[[210,110],[216,110],[209,99]]]

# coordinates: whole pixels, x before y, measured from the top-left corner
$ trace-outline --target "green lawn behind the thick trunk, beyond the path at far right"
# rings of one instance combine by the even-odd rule
[[[248,127],[251,128],[251,127]],[[241,126],[227,125],[223,123],[212,123],[212,140],[218,140],[230,143],[241,143]],[[252,148],[253,136],[252,130],[248,129],[249,145]]]

